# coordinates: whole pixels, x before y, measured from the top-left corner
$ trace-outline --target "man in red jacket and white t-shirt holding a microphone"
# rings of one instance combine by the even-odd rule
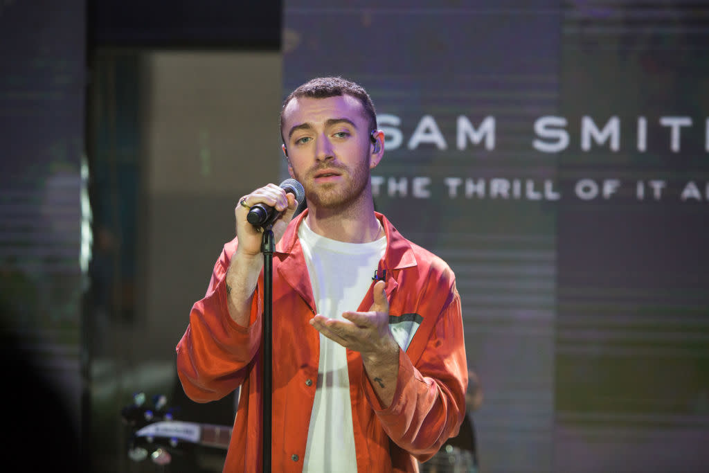
[[[236,238],[177,345],[184,390],[206,402],[241,386],[224,471],[262,469],[262,234],[246,216],[272,206],[283,212],[272,228],[273,471],[418,471],[465,411],[454,274],[374,211],[384,133],[362,87],[339,77],[298,87],[281,136],[308,208],[294,218],[294,196],[274,184],[240,199]]]

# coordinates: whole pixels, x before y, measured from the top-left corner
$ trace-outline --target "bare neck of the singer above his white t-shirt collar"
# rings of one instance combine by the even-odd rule
[[[374,216],[374,204],[357,211],[333,211],[308,207],[308,227],[318,235],[345,243],[369,243],[384,235],[384,228]]]

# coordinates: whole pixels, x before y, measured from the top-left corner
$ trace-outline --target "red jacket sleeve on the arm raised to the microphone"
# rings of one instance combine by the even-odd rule
[[[235,240],[224,246],[206,295],[192,306],[189,325],[177,344],[177,374],[193,401],[216,401],[240,386],[261,343],[258,287],[250,325],[242,327],[229,316],[225,279],[234,250]]]

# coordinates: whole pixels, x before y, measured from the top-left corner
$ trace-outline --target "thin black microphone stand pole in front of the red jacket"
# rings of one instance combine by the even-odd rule
[[[271,226],[263,231],[261,251],[264,254],[264,313],[262,330],[263,350],[263,472],[271,473],[271,416],[272,416],[272,312],[273,312],[273,253],[274,236]]]

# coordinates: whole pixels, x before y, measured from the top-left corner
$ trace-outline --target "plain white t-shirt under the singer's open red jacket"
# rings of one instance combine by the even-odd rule
[[[318,313],[342,319],[342,312],[357,311],[384,256],[386,238],[343,243],[314,233],[305,220],[298,238]],[[303,472],[357,472],[347,352],[324,335],[320,335],[318,384]]]

